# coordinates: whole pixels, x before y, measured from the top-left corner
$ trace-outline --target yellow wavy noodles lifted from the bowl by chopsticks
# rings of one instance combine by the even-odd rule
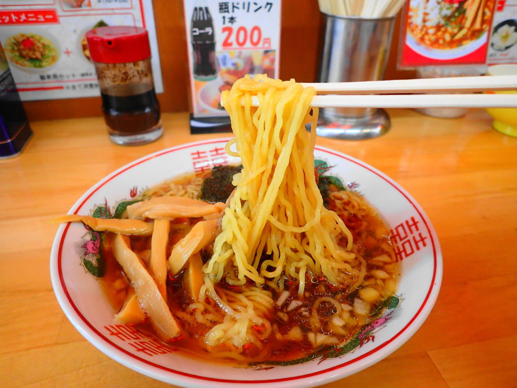
[[[316,184],[317,109],[309,106],[315,94],[294,80],[265,75],[240,79],[222,93],[236,137],[226,152],[240,157],[243,168],[234,176],[222,232],[203,268],[212,283],[281,283],[285,275],[299,280],[301,294],[306,275],[325,276],[334,285],[356,283],[364,275],[350,264],[357,260],[351,233],[323,206]],[[259,107],[251,106],[252,96]],[[237,152],[230,150],[233,144]]]

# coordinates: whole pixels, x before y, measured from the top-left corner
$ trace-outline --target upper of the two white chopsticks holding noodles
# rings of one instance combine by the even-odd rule
[[[386,94],[517,90],[517,76],[423,78],[416,80],[302,83],[322,94]]]

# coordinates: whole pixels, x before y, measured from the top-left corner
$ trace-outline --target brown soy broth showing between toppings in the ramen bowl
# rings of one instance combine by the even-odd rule
[[[183,181],[182,181],[183,182]],[[370,274],[371,270],[382,269],[389,273],[392,280],[397,279],[399,267],[398,263],[395,262],[393,256],[393,249],[389,240],[389,231],[381,218],[376,216],[375,212],[371,208],[367,208],[364,212],[356,212],[351,214],[340,214],[340,217],[345,222],[346,226],[351,230],[354,237],[354,248],[361,257],[367,262],[367,275],[364,278],[364,282],[376,286],[375,279]],[[169,246],[166,250],[166,255],[169,256],[172,247],[181,238],[183,238],[193,225],[199,219],[188,219],[188,218],[177,218],[171,222],[171,232],[169,236]],[[116,262],[112,250],[111,242],[113,240],[113,234],[104,233],[103,240],[103,257],[106,263],[106,274],[103,279],[99,279],[101,288],[106,294],[110,305],[113,307],[114,312],[118,312],[120,306],[123,304],[126,296],[130,291],[130,285],[127,281],[120,265]],[[151,237],[137,237],[131,236],[130,243],[131,248],[139,254],[142,261],[146,262],[146,255],[150,249]],[[343,241],[343,244],[345,241]],[[390,265],[379,264],[375,262],[375,258],[379,255],[386,255],[393,258],[393,262]],[[372,260],[372,262],[370,262]],[[192,303],[187,286],[184,283],[184,273],[180,272],[177,276],[169,276],[166,282],[167,287],[167,303],[172,311],[173,316],[177,319],[178,323],[182,327],[181,334],[171,341],[165,342],[166,345],[173,347],[174,349],[180,349],[185,355],[193,357],[195,359],[202,359],[205,361],[216,362],[216,363],[230,363],[235,365],[235,360],[221,360],[215,357],[206,348],[204,342],[205,334],[212,329],[212,326],[206,326],[202,323],[194,322],[192,319],[185,319],[185,314],[188,314],[189,305]],[[349,287],[351,284],[344,284],[340,287],[331,285],[325,278],[322,277],[306,277],[306,289],[303,293],[302,302],[303,304],[292,311],[286,311],[286,304],[283,306],[274,306],[272,311],[273,316],[269,318],[272,325],[275,325],[275,330],[272,334],[261,340],[264,349],[257,349],[254,345],[246,345],[244,351],[241,353],[246,357],[245,363],[250,362],[263,362],[263,361],[277,361],[286,362],[301,357],[305,357],[311,354],[318,348],[326,345],[316,347],[312,346],[308,339],[308,333],[311,332],[310,313],[311,307],[315,301],[320,297],[332,297],[339,303],[352,305],[355,297],[358,295],[358,290],[351,292]],[[230,286],[225,282],[221,282],[217,287],[226,288],[231,291],[238,291],[234,286]],[[366,287],[366,286],[365,286]],[[382,286],[379,286],[382,287]],[[361,286],[359,287],[359,289]],[[288,291],[288,301],[299,300],[298,296],[298,283],[292,282],[289,279],[285,279],[284,290]],[[278,299],[282,291],[272,291],[273,299]],[[382,295],[376,303],[382,302],[386,299],[386,295]],[[205,300],[208,302],[208,300]],[[371,312],[375,309],[376,304],[372,303]],[[331,303],[321,303],[317,309],[318,317],[324,322],[322,329],[324,333],[327,330],[326,323],[329,317],[333,314],[333,308]],[[217,309],[217,307],[216,307]],[[309,314],[304,314],[305,311]],[[184,318],[180,316],[183,314]],[[281,319],[278,316],[278,312],[283,312],[287,315],[287,319]],[[351,313],[352,314],[352,313]],[[192,317],[192,314],[191,314]],[[352,323],[347,323],[346,333],[335,334],[340,341],[340,344],[344,344],[350,340],[362,325],[368,323],[356,319],[353,317]],[[373,319],[373,318],[372,318]],[[155,331],[153,326],[150,324],[148,319],[143,322],[136,324],[139,330],[154,334]],[[280,337],[285,337],[293,327],[299,327],[302,332],[301,340],[283,340],[277,337],[277,333]],[[253,327],[257,333],[262,330],[261,327]],[[157,337],[158,338],[158,337]],[[224,348],[224,346],[222,346]],[[228,349],[231,350],[231,349]]]

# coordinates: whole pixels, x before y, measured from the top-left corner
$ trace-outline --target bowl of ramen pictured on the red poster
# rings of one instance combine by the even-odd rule
[[[486,43],[495,0],[410,0],[406,43],[433,59],[468,55]]]

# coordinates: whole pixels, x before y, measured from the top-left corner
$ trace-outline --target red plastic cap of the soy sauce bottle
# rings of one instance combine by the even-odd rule
[[[108,26],[90,29],[86,33],[86,41],[94,62],[136,62],[151,56],[147,30],[141,27]]]

